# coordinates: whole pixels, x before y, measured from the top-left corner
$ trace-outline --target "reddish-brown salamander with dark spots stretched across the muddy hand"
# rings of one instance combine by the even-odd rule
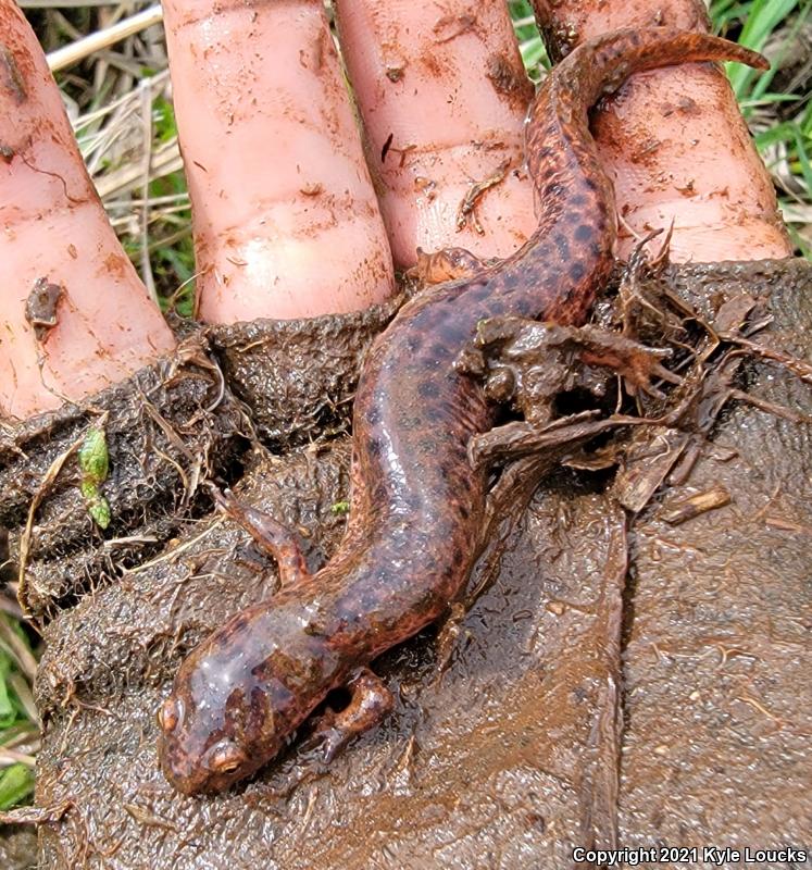
[[[332,722],[333,748],[386,712],[366,666],[444,613],[482,546],[486,474],[466,447],[491,410],[455,358],[486,318],[585,320],[616,232],[588,109],[635,71],[719,59],[764,65],[721,39],[658,28],[584,45],[548,77],[527,126],[538,229],[509,260],[420,295],[375,343],[355,399],[347,536],[313,577],[286,558],[282,589],[184,661],[159,714],[161,763],[177,790],[220,791],[251,774],[335,687],[354,696]],[[280,551],[278,527],[228,509]]]

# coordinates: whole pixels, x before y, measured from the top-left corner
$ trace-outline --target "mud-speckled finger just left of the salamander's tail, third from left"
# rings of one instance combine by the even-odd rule
[[[536,220],[522,171],[533,88],[507,4],[337,0],[336,16],[396,263],[419,247],[512,253]]]

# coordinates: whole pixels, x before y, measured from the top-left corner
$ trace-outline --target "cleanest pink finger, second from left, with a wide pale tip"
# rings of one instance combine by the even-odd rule
[[[164,3],[199,313],[353,311],[391,260],[322,0]]]

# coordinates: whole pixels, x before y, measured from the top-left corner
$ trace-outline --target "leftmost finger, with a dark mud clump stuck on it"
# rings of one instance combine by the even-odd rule
[[[174,347],[11,0],[0,0],[0,418],[78,400]]]

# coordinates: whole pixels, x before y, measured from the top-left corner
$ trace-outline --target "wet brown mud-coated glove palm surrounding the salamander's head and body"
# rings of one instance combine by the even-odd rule
[[[666,268],[658,287],[647,298],[678,294],[726,326],[728,351],[809,357],[809,263]],[[154,711],[183,656],[276,584],[230,520],[182,517],[93,594],[77,577],[45,629],[37,804],[70,806],[40,826],[39,866],[570,868],[574,846],[809,845],[812,452],[809,425],[775,411],[810,414],[812,396],[807,370],[752,352],[709,355],[674,388],[687,432],[564,456],[501,526],[498,574],[475,572],[466,612],[376,662],[395,712],[329,766],[304,734],[214,797],[182,797],[158,770]],[[722,401],[736,389],[762,409]],[[297,529],[316,568],[343,529],[349,439],[310,432],[282,456],[249,433],[235,489]]]

